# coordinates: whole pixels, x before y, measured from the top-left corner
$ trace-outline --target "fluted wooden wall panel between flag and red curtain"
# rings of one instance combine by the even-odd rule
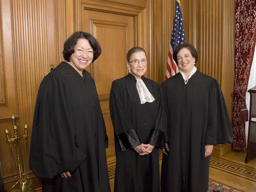
[[[195,46],[197,68],[216,78],[222,87],[229,115],[234,82],[235,1],[197,0]]]

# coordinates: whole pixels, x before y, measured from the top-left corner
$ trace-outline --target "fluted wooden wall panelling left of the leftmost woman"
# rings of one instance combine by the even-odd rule
[[[65,1],[0,2],[0,158],[8,190],[14,184],[16,170],[4,131],[8,128],[13,133],[10,117],[15,115],[20,117],[20,135],[24,135],[25,124],[28,124],[31,134],[40,82],[50,67],[62,60],[66,38]],[[21,149],[24,153],[25,147],[21,145]]]

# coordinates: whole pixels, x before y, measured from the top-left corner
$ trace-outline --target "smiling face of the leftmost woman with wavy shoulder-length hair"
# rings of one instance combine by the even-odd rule
[[[83,70],[91,64],[94,58],[94,50],[87,39],[78,39],[74,47],[74,53],[70,57],[69,64],[82,75]]]

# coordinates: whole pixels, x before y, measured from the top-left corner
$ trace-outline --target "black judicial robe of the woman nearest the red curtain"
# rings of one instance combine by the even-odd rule
[[[169,153],[161,167],[161,191],[204,192],[209,160],[205,145],[232,141],[228,112],[216,79],[199,71],[187,85],[181,74],[162,83]]]

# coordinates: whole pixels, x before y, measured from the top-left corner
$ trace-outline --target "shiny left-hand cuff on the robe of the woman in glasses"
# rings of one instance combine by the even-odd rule
[[[127,130],[126,132],[117,135],[117,139],[122,151],[141,145],[141,141],[134,129]]]

